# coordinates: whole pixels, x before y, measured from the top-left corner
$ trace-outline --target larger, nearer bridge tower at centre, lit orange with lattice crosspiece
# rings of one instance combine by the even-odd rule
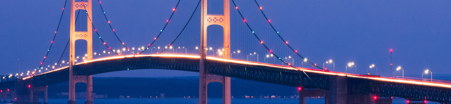
[[[210,82],[222,83],[222,104],[230,104],[230,77],[209,74],[204,61],[207,49],[207,27],[220,25],[224,29],[223,58],[230,59],[230,0],[224,0],[224,14],[207,14],[207,0],[201,0],[201,32],[199,49],[199,104],[207,104],[207,85]]]

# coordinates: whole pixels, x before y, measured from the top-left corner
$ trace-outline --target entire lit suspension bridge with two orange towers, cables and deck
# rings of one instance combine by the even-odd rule
[[[87,84],[85,104],[93,104],[92,91],[96,88],[92,87],[95,83],[92,75],[168,69],[199,72],[199,104],[207,104],[207,85],[210,82],[222,83],[223,104],[231,104],[230,78],[298,87],[299,104],[305,104],[305,97],[309,96],[322,96],[325,104],[391,104],[393,97],[407,99],[406,103],[410,104],[428,101],[451,104],[450,83],[335,72],[323,68],[324,65],[320,67],[321,63],[317,65],[308,60],[291,46],[296,42],[289,43],[283,38],[257,0],[249,1],[247,3],[251,5],[240,6],[243,1],[223,0],[214,4],[210,0],[195,0],[189,1],[191,6],[186,6],[182,4],[188,2],[179,0],[166,23],[161,24],[159,32],[147,36],[149,41],[144,46],[134,48],[121,40],[123,34],[115,31],[114,23],[107,18],[107,9],[102,7],[100,0],[66,0],[50,47],[39,67],[26,72],[27,75],[18,72],[21,75],[10,75],[14,77],[1,81],[0,98],[3,102],[9,98],[11,103],[36,104],[39,92],[43,91],[43,103],[46,104],[47,86],[69,81],[68,104],[77,104],[75,84],[78,82]],[[106,21],[94,21],[92,5],[100,7],[100,16]],[[246,9],[257,11],[260,23],[248,21],[246,18],[250,13]],[[64,13],[68,11],[70,24],[64,24],[63,17],[67,14]],[[69,37],[55,38],[64,35],[60,33],[63,25],[70,26]],[[232,28],[238,29],[231,31]],[[104,35],[106,32],[110,36]],[[238,37],[236,33],[248,37]],[[207,44],[207,41],[211,43]],[[56,46],[60,48],[54,48]],[[244,46],[247,50],[236,50],[238,48],[232,46]],[[258,52],[250,52],[253,50]],[[244,51],[250,52],[246,58],[234,56]],[[258,59],[258,53],[267,53],[262,55],[263,61]],[[287,54],[289,58],[283,57]],[[300,59],[300,63],[295,63],[294,58]],[[350,63],[349,68],[355,69],[354,64]]]

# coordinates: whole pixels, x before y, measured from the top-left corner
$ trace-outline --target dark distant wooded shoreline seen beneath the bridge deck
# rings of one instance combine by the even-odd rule
[[[198,77],[169,77],[169,78],[145,78],[145,77],[94,77],[93,93],[108,95],[109,98],[119,98],[120,95],[132,98],[155,98],[161,93],[169,98],[198,97]],[[57,98],[57,94],[68,92],[69,82],[63,82],[48,86],[49,98]],[[75,92],[86,92],[85,83],[77,83]],[[212,82],[208,84],[207,95],[209,98],[222,97],[222,84]],[[296,87],[275,85],[257,81],[241,79],[231,80],[231,94],[235,98],[245,95],[259,98],[259,96],[286,96],[297,95]]]

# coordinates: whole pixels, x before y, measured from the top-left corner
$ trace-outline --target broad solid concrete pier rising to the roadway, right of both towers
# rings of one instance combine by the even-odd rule
[[[329,104],[348,104],[348,82],[346,76],[329,76]]]

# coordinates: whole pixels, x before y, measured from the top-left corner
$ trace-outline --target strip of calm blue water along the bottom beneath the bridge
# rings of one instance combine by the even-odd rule
[[[8,100],[9,101],[9,100]],[[77,99],[84,104],[85,99]],[[393,99],[393,104],[406,104],[405,99]],[[41,99],[42,102],[42,99]],[[94,99],[95,104],[198,104],[198,99]],[[67,99],[49,99],[48,104],[67,104]],[[208,104],[222,104],[222,99],[208,99]],[[232,99],[232,104],[299,104],[299,99]],[[324,104],[324,99],[306,99],[306,104]],[[428,102],[428,104],[439,104]]]

